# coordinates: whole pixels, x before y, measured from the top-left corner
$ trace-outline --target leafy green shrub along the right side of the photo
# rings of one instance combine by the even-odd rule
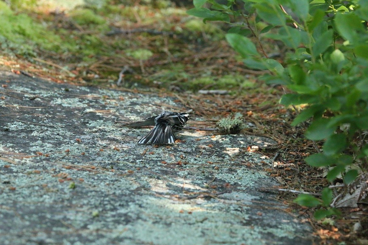
[[[239,2],[194,0],[195,8],[187,13],[204,22],[230,24],[226,40],[244,64],[269,70],[271,74],[263,76],[267,83],[283,84],[294,92],[280,102],[308,104],[292,125],[312,119],[305,136],[324,143],[322,152],[305,161],[328,168],[329,181],[341,175],[349,185],[368,168],[368,1],[243,0],[244,7]],[[205,3],[209,7],[203,7]],[[239,18],[243,21],[236,22]],[[277,40],[287,50],[282,64],[263,50],[268,40]],[[328,208],[332,192],[324,189],[321,199],[304,194],[296,201]],[[315,217],[336,213],[328,208],[318,210]]]

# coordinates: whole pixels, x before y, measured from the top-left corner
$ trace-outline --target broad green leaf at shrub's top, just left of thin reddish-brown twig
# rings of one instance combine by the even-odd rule
[[[259,17],[261,17],[264,21],[272,25],[286,24],[285,13],[281,10],[277,3],[255,4],[254,8],[256,9]]]

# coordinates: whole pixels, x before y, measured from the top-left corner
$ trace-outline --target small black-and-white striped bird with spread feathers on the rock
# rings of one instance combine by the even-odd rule
[[[138,144],[171,144],[176,141],[173,133],[184,128],[189,119],[185,112],[162,112],[158,116],[151,116],[141,122],[127,123],[123,127],[155,126],[148,134],[138,141]]]

